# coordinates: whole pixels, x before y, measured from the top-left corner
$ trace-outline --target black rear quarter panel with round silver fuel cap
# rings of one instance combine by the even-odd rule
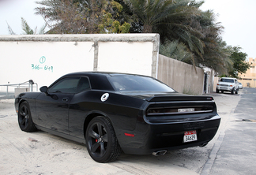
[[[108,93],[109,97],[102,102],[101,97],[105,93]],[[139,115],[142,117],[145,103],[147,103],[145,100],[112,91],[85,91],[74,95],[70,102],[70,135],[83,137],[85,120],[97,115],[108,117],[117,135],[120,128],[134,130],[137,117]]]

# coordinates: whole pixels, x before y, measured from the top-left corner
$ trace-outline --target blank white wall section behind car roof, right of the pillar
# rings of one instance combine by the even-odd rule
[[[152,46],[152,42],[100,42],[98,71],[151,76],[152,59],[150,58],[152,58]],[[119,50],[122,51],[120,52]]]

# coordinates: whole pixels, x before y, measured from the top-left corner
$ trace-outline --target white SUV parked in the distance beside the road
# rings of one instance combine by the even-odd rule
[[[239,83],[236,78],[223,77],[216,86],[216,93],[219,93],[219,91],[222,93],[224,91],[231,91],[232,94],[234,94],[234,92],[237,94],[239,91]]]

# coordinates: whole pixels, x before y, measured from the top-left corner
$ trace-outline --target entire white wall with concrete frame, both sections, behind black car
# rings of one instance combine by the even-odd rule
[[[49,86],[79,71],[156,77],[158,46],[158,34],[0,35],[0,84]]]

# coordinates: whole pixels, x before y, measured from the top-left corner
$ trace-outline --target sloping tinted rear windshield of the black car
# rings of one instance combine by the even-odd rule
[[[171,91],[168,85],[148,76],[111,76],[116,91]]]

